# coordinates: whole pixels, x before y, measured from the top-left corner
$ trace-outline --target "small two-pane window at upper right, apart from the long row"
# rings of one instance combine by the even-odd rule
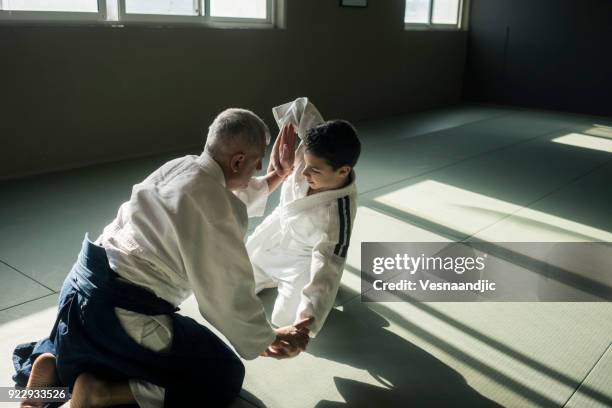
[[[461,29],[467,0],[406,0],[404,22],[408,28]]]

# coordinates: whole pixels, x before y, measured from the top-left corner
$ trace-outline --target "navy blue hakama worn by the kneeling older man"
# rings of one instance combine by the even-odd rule
[[[170,350],[155,352],[134,341],[117,319],[115,307],[145,315],[170,315]],[[210,330],[177,311],[152,292],[118,279],[104,248],[85,237],[60,292],[51,334],[17,346],[13,379],[25,386],[33,361],[50,352],[56,356],[61,385],[71,391],[79,374],[91,372],[113,380],[139,379],[164,387],[165,407],[229,403],[242,387],[244,365]]]

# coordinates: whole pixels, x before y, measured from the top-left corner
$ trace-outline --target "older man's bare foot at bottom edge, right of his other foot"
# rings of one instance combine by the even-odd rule
[[[72,399],[62,407],[98,408],[133,403],[136,400],[127,381],[111,382],[83,373],[74,383]]]

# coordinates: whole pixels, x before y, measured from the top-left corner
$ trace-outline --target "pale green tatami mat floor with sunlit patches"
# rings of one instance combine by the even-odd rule
[[[363,241],[612,241],[612,119],[465,105],[356,126],[360,203],[336,307],[298,358],[246,362],[236,406],[612,406],[610,303],[359,296]],[[170,158],[1,185],[0,386],[13,347],[51,329],[84,234]],[[197,318],[193,298],[182,310]]]

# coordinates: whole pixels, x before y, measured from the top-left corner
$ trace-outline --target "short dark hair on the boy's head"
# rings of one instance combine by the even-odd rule
[[[306,150],[325,159],[334,170],[354,167],[361,153],[357,132],[346,120],[330,120],[310,128],[304,144]]]

